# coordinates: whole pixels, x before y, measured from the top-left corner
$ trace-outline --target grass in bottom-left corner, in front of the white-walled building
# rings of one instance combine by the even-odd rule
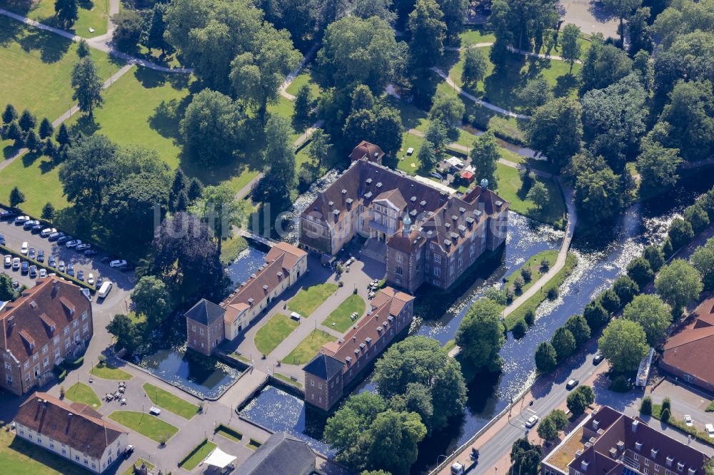
[[[89,471],[46,449],[0,431],[0,471],[4,474],[89,475]]]

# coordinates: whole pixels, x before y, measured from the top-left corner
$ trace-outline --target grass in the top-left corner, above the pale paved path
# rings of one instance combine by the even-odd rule
[[[39,0],[36,2],[0,0],[0,7],[16,14],[27,16],[48,26],[64,29],[55,17],[54,3],[54,0]],[[71,31],[85,38],[105,34],[106,24],[109,20],[109,15],[106,13],[109,11],[109,0],[82,0],[78,1],[77,5],[79,6],[79,19],[66,31]],[[94,29],[94,32],[90,32],[90,28]]]

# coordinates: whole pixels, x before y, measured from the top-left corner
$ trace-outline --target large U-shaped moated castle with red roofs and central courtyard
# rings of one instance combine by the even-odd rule
[[[383,243],[389,285],[453,285],[479,256],[506,240],[508,203],[483,180],[463,195],[381,165],[363,142],[350,167],[300,216],[300,245],[335,255],[353,237]],[[427,180],[428,181],[428,180]]]

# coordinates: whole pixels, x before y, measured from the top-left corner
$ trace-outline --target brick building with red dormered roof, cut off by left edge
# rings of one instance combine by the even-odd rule
[[[38,280],[0,308],[0,387],[22,395],[45,384],[64,359],[78,357],[94,334],[91,303],[73,283]]]

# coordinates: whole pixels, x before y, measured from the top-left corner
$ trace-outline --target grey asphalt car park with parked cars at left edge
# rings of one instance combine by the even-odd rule
[[[5,237],[5,246],[16,252],[20,252],[21,246],[27,242],[28,247],[34,248],[35,252],[44,251],[44,265],[48,265],[50,257],[54,257],[57,265],[60,261],[64,261],[65,265],[73,265],[75,276],[81,270],[84,272],[84,280],[87,280],[89,274],[93,274],[94,278],[102,277],[105,281],[109,280],[112,283],[112,290],[106,299],[95,299],[94,303],[100,306],[116,307],[115,311],[123,310],[126,312],[124,300],[134,287],[134,272],[121,272],[109,266],[109,263],[101,262],[102,253],[87,257],[83,252],[77,252],[74,249],[69,249],[62,244],[50,242],[46,237],[41,237],[39,234],[33,234],[29,230],[24,230],[22,225],[15,225],[14,220],[0,220],[0,234]],[[16,280],[21,285],[33,287],[35,279],[32,279],[29,274],[22,274],[20,270],[13,270],[12,267],[2,267],[2,271],[10,275],[13,280]],[[52,272],[48,270],[48,272]],[[54,270],[56,272],[56,270]],[[61,276],[61,273],[57,272]],[[106,302],[104,302],[106,300]],[[124,308],[121,306],[124,305]]]

